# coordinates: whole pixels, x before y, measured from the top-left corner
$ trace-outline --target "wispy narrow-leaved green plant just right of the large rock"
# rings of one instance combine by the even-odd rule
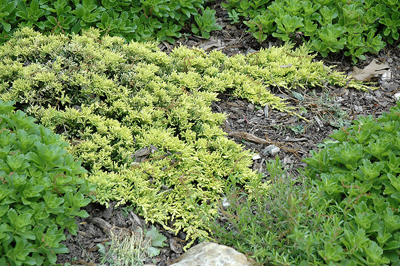
[[[337,210],[327,208],[308,177],[297,181],[289,175],[279,158],[267,169],[269,176],[254,178],[249,192],[240,189],[238,176],[229,176],[224,188],[229,205],[219,203],[218,214],[206,219],[214,237],[260,264],[324,265],[318,250],[341,236]]]

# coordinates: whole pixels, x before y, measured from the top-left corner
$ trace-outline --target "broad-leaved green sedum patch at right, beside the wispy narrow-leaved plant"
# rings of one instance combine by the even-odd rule
[[[326,261],[400,264],[399,121],[400,103],[378,119],[359,117],[304,159],[324,197],[342,210],[340,242],[319,251]]]

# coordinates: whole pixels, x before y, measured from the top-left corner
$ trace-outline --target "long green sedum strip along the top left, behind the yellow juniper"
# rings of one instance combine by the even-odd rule
[[[192,31],[209,37],[215,10],[204,0],[0,0],[0,43],[17,28],[28,26],[41,32],[78,33],[98,27],[102,33],[145,41],[174,42],[193,17]]]

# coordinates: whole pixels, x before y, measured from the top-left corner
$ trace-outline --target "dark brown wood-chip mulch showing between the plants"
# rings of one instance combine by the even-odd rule
[[[217,10],[218,23],[221,30],[212,32],[209,39],[199,36],[184,35],[171,45],[160,43],[159,48],[169,52],[178,45],[195,46],[206,51],[221,50],[228,56],[248,52],[254,52],[260,47],[281,44],[275,39],[267,39],[258,43],[245,32],[244,25],[231,25],[227,19],[227,12],[220,7],[220,2],[213,2],[211,8]],[[279,156],[280,161],[294,175],[297,168],[305,163],[301,158],[309,156],[309,150],[318,149],[323,139],[327,138],[334,129],[346,126],[358,115],[368,114],[379,116],[383,111],[395,105],[395,93],[400,91],[400,50],[397,46],[386,46],[379,54],[369,54],[365,60],[359,61],[356,66],[363,68],[372,59],[386,63],[390,66],[386,77],[379,76],[371,79],[374,90],[368,92],[345,87],[333,87],[327,85],[321,88],[291,89],[272,88],[273,93],[286,99],[287,105],[293,107],[293,113],[283,113],[276,110],[254,106],[243,99],[238,99],[229,94],[220,94],[219,101],[212,103],[215,112],[226,113],[227,119],[222,125],[227,137],[243,144],[246,149],[259,154],[253,159],[254,170],[265,172],[266,162]],[[328,65],[336,65],[334,69],[348,73],[352,69],[351,59],[343,57],[341,53],[329,57],[317,57]],[[257,138],[256,136],[262,141]],[[254,140],[255,139],[255,140]],[[263,143],[257,143],[263,142]],[[271,155],[266,147],[273,144],[279,147],[276,155]],[[67,231],[67,239],[63,242],[69,249],[67,254],[58,255],[58,263],[68,262],[79,265],[98,265],[101,254],[97,244],[106,246],[110,241],[109,231],[112,229],[135,229],[137,226],[150,228],[144,220],[137,216],[125,205],[114,207],[115,202],[110,202],[110,207],[105,208],[96,203],[86,206],[89,213],[87,218],[77,218],[78,233],[71,235]],[[148,265],[169,265],[181,253],[183,253],[184,233],[172,234],[155,224],[156,228],[167,237],[167,245],[161,248],[160,255],[147,259]],[[108,229],[107,229],[108,228]],[[107,234],[108,231],[108,234]]]

